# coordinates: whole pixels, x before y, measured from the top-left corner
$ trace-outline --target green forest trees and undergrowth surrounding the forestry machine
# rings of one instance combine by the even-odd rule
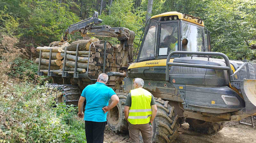
[[[204,20],[212,51],[256,60],[256,0],[0,0],[0,143],[86,142],[84,125],[73,112],[77,109],[52,108],[59,93],[40,86],[33,60],[39,57],[37,46],[59,41],[68,26],[92,17],[93,11],[102,25],[134,31],[134,51],[146,17],[177,11]],[[72,41],[82,38],[71,35]]]

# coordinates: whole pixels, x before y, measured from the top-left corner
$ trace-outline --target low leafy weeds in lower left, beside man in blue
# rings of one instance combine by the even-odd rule
[[[58,92],[30,83],[0,85],[0,139],[6,142],[85,142],[77,108],[55,103]]]

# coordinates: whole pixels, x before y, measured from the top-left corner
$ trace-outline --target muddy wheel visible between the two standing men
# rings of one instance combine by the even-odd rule
[[[118,93],[117,96],[119,97],[119,103],[113,109],[109,110],[107,114],[108,126],[116,134],[128,133],[128,123],[125,120],[124,112],[127,94]],[[109,103],[111,103],[111,100]]]

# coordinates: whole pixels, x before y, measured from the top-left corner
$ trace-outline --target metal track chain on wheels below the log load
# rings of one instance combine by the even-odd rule
[[[64,103],[67,105],[78,105],[78,101],[81,95],[80,89],[78,86],[74,85],[62,85],[62,84],[56,84],[56,83],[47,83],[46,86],[53,88],[51,90],[61,92],[61,95],[57,98],[57,102],[62,102],[62,98],[64,97]],[[60,99],[58,99],[60,98]]]

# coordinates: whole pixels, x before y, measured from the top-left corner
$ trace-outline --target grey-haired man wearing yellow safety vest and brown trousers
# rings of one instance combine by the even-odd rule
[[[144,143],[151,143],[152,125],[157,114],[157,105],[153,95],[143,89],[144,81],[135,78],[134,89],[125,101],[125,118],[129,124],[131,143],[139,143],[140,132]]]

